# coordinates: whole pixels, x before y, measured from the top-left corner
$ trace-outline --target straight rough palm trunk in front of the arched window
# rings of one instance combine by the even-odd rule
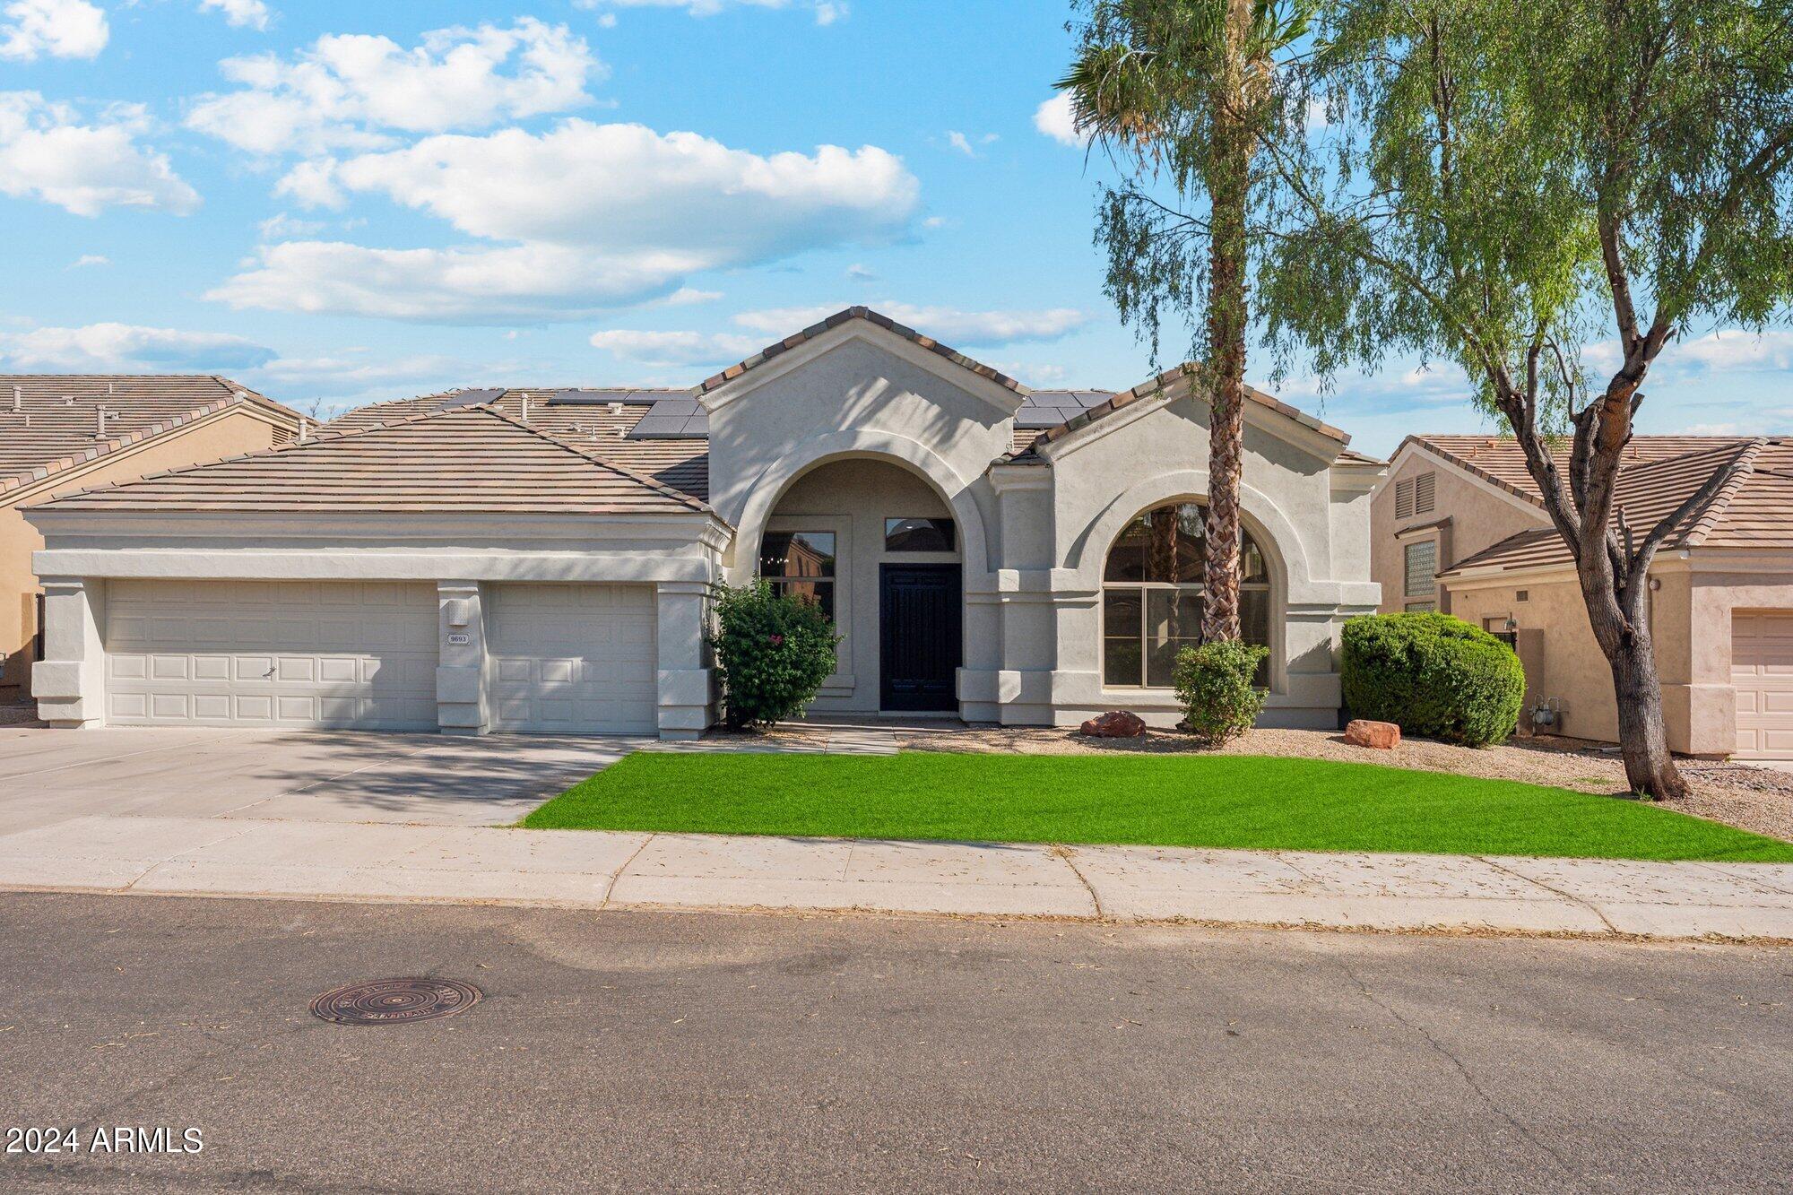
[[[1208,167],[1208,526],[1201,637],[1239,637],[1239,474],[1244,465],[1246,203],[1252,131],[1244,120],[1250,0],[1226,5],[1226,70],[1214,92]]]

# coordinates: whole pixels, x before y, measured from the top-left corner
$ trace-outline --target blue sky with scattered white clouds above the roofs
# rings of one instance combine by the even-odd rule
[[[1131,386],[1101,163],[1040,111],[1067,14],[0,0],[0,370],[219,371],[328,413],[689,384],[870,303],[1035,386]],[[1789,370],[1786,332],[1702,328],[1641,425],[1788,431]],[[1451,368],[1282,393],[1366,450],[1490,427]]]

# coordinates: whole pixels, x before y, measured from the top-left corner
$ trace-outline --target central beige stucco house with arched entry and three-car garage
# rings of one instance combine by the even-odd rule
[[[1029,391],[866,309],[687,391],[486,389],[36,506],[57,725],[658,732],[715,718],[710,587],[814,596],[818,711],[1180,718],[1208,406]],[[1269,725],[1336,727],[1382,463],[1252,393],[1244,628]]]

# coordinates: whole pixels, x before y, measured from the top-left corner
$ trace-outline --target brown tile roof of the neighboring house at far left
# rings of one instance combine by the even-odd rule
[[[298,413],[215,375],[0,375],[0,495],[244,402],[298,427]]]

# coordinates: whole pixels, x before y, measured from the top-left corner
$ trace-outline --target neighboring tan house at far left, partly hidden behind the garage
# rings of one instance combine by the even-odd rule
[[[222,377],[0,375],[0,702],[29,696],[43,599],[22,506],[287,443],[299,416]]]

